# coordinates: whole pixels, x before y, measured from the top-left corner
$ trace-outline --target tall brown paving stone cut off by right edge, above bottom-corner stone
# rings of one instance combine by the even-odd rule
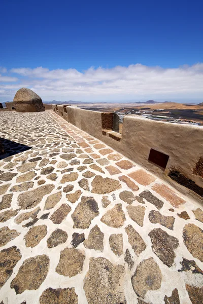
[[[203,230],[194,224],[187,224],[183,229],[183,240],[192,256],[203,262]]]

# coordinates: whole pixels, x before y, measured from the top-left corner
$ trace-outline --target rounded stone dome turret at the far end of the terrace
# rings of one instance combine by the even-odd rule
[[[21,88],[13,99],[17,112],[41,112],[44,106],[41,97],[27,88]]]

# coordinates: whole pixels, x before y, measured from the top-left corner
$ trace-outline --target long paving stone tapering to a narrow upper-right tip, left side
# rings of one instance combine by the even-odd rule
[[[40,186],[36,189],[21,193],[18,196],[18,206],[22,209],[29,209],[36,207],[46,194],[50,194],[54,188],[54,185],[48,184]]]

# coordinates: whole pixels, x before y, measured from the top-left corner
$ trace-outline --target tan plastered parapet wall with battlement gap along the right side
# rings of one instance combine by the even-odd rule
[[[114,132],[114,113],[52,105],[67,122],[191,195],[203,197],[203,128],[126,116]],[[183,187],[184,186],[184,187]]]

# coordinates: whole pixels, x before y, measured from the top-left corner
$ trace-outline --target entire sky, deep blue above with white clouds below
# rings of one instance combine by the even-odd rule
[[[202,11],[202,1],[3,0],[0,99],[26,86],[44,100],[201,100]]]

